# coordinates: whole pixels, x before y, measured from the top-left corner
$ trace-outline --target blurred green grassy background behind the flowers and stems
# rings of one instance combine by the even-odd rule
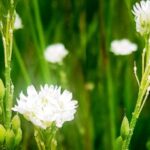
[[[135,0],[18,0],[23,29],[14,32],[12,81],[14,104],[27,85],[61,85],[78,100],[74,121],[60,129],[58,150],[113,150],[126,114],[131,119],[138,85],[134,61],[141,77],[143,40],[135,29]],[[138,51],[128,56],[110,52],[114,39],[128,38]],[[45,48],[63,43],[69,50],[63,65],[47,63]],[[0,77],[4,79],[4,53],[0,42]],[[145,150],[150,139],[150,102],[137,123],[130,148]],[[23,117],[22,150],[37,149],[33,126]],[[150,148],[149,148],[150,149]]]

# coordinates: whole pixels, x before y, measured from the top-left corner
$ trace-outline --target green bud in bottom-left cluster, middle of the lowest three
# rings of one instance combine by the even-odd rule
[[[13,130],[8,129],[6,131],[6,137],[5,137],[6,147],[8,149],[12,149],[14,147],[14,140],[15,140],[15,134]]]

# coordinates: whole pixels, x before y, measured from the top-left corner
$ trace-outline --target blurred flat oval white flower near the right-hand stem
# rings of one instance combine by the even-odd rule
[[[128,39],[114,40],[111,42],[111,52],[115,55],[129,55],[137,50],[137,45]]]

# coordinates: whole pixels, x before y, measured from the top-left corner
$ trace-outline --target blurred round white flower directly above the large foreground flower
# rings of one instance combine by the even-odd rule
[[[45,59],[51,63],[60,63],[68,55],[68,51],[61,43],[50,45],[44,52]]]

